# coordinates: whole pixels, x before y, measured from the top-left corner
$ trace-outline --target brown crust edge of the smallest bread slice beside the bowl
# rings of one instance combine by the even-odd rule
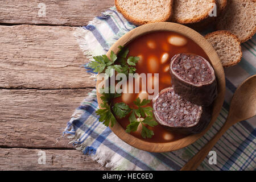
[[[236,36],[236,35],[234,35],[234,34],[232,34],[232,32],[230,32],[230,31],[227,31],[227,30],[218,30],[218,31],[215,31],[215,32],[210,32],[209,34],[207,34],[207,35],[205,35],[204,37],[205,37],[205,39],[208,39],[208,38],[210,38],[210,37],[212,37],[212,36],[216,36],[216,35],[228,35],[228,36],[232,36],[235,40],[236,40],[236,42],[239,44],[239,53],[240,53],[240,57],[238,57],[238,59],[236,60],[236,61],[232,61],[231,63],[228,63],[228,64],[223,64],[222,63],[222,66],[223,67],[225,67],[225,68],[227,68],[227,67],[231,67],[231,66],[233,66],[233,65],[236,65],[236,64],[238,64],[240,61],[241,61],[241,59],[242,59],[242,48],[241,48],[241,42],[240,42],[240,40],[238,39],[238,37]]]

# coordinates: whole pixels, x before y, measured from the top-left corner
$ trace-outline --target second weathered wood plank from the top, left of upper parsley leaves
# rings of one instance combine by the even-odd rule
[[[75,30],[61,26],[0,26],[0,88],[95,86],[81,67],[88,60],[73,36]]]

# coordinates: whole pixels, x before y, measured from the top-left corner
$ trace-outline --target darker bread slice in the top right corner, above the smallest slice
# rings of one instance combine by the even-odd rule
[[[249,40],[256,32],[256,0],[229,0],[216,28],[232,32],[242,43]]]

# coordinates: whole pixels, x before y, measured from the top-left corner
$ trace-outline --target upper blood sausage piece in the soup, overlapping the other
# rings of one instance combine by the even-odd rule
[[[174,92],[196,105],[209,106],[217,97],[217,81],[210,63],[198,55],[180,53],[171,59]]]

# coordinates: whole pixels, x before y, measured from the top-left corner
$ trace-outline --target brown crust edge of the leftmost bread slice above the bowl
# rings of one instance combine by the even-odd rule
[[[165,16],[163,16],[163,18],[159,20],[142,21],[140,19],[134,19],[131,15],[127,14],[126,11],[118,5],[118,0],[115,0],[115,7],[117,8],[117,11],[121,13],[123,17],[125,17],[125,19],[129,20],[129,22],[137,26],[141,26],[142,24],[147,24],[147,23],[167,22],[168,20],[171,19],[171,16],[172,16],[172,12],[173,12],[172,5],[173,5],[173,0],[171,0],[169,12]]]

